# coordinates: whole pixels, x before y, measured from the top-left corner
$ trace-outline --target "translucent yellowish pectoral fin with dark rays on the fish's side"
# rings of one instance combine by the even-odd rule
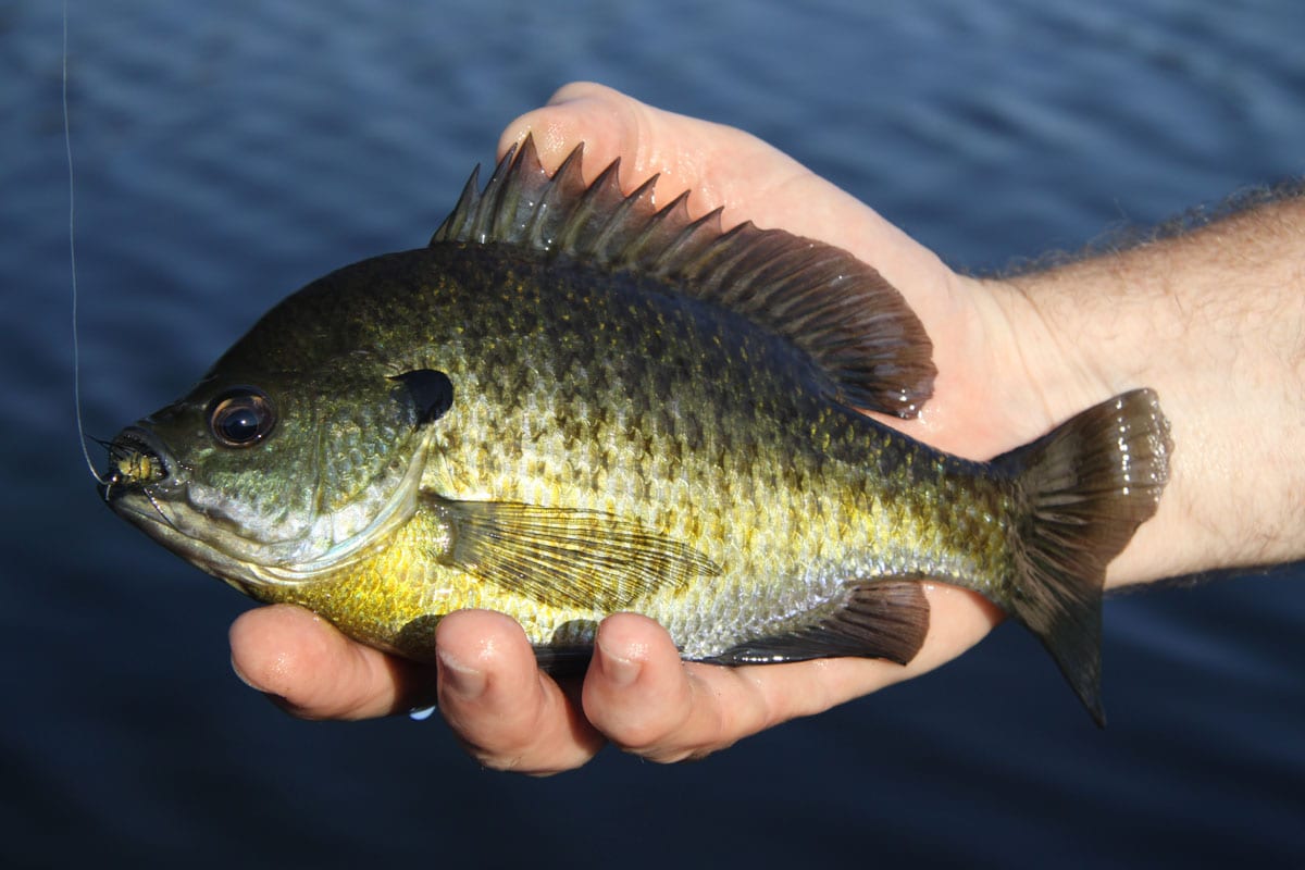
[[[620,610],[719,566],[680,541],[591,510],[427,497],[463,570],[551,607]]]

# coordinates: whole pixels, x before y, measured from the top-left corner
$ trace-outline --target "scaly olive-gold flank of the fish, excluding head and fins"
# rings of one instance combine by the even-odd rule
[[[967,494],[966,509],[958,510],[950,498],[959,485],[955,475],[968,472],[977,483],[984,480],[980,470],[919,455],[887,428],[822,400],[774,339],[727,333],[692,307],[668,310],[642,287],[557,287],[556,265],[513,262],[502,252],[438,249],[414,258],[448,280],[437,295],[454,297],[462,322],[478,326],[463,326],[440,360],[459,385],[459,399],[432,433],[422,483],[438,500],[418,505],[403,532],[412,536],[410,544],[392,547],[371,570],[343,580],[352,595],[371,601],[358,610],[358,622],[333,617],[352,633],[393,642],[419,614],[479,607],[512,614],[535,643],[589,639],[585,633],[606,609],[557,608],[556,592],[521,595],[461,569],[431,565],[427,554],[455,539],[457,518],[438,509],[445,502],[596,510],[688,543],[706,560],[686,578],[697,582],[637,603],[683,638],[693,657],[766,629],[782,630],[776,613],[805,613],[847,577],[895,575],[916,562],[941,575],[1000,575],[1000,517],[1010,511],[1000,488]],[[441,262],[446,258],[458,265]],[[458,274],[468,261],[474,269]],[[572,326],[552,322],[548,312],[559,297],[569,312],[562,323]],[[398,305],[393,300],[385,308]],[[591,323],[620,314],[630,323],[656,318],[662,335],[622,327],[611,338],[591,338]],[[667,347],[668,333],[679,337],[677,350]],[[502,335],[517,338],[505,342]],[[583,363],[566,350],[581,347]],[[535,363],[521,367],[522,359]],[[739,378],[723,377],[739,369],[739,359],[754,365]],[[709,417],[685,413],[685,407],[715,411]],[[500,437],[485,436],[493,432]],[[776,445],[786,445],[783,457]],[[867,460],[889,475],[872,483]],[[872,514],[881,519],[870,520]],[[953,537],[963,547],[951,545]],[[771,547],[774,540],[786,547]],[[441,573],[446,577],[432,582]],[[775,577],[804,579],[786,587]],[[427,597],[432,586],[449,590],[437,605]],[[328,583],[269,591],[271,600],[318,610],[341,593]],[[402,607],[405,597],[410,603]],[[636,601],[616,596],[609,604]],[[377,635],[367,625],[380,613],[390,616]]]

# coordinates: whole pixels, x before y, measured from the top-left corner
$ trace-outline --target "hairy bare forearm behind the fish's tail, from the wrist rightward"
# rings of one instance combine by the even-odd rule
[[[1168,489],[1112,586],[1305,558],[1305,198],[994,290],[1053,416],[1150,386],[1171,420]]]

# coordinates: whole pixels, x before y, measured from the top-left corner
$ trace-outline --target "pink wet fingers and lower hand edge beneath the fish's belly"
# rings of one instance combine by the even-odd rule
[[[932,627],[907,667],[863,659],[722,668],[683,663],[656,622],[620,613],[599,627],[583,689],[540,673],[525,633],[500,613],[448,616],[436,633],[440,712],[482,764],[545,775],[579,767],[607,741],[655,762],[702,758],[958,656],[1000,612],[933,584]],[[232,665],[308,719],[361,719],[431,703],[429,668],[360,646],[312,613],[251,610],[231,629]]]

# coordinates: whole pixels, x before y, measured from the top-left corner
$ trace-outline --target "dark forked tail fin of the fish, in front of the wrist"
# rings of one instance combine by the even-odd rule
[[[1027,506],[1011,610],[1056,659],[1098,725],[1105,567],[1155,514],[1169,424],[1151,390],[1103,402],[993,459]]]

